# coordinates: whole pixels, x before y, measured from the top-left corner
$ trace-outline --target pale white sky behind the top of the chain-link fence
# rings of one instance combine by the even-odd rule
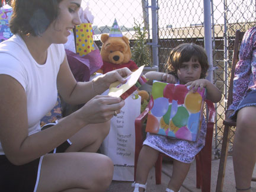
[[[226,0],[228,1],[228,16],[230,23],[236,21],[255,21],[255,0]],[[114,18],[119,25],[133,27],[134,20],[142,21],[142,0],[84,0],[83,7],[87,6],[94,15],[93,25],[111,26]],[[151,0],[149,0],[151,4]],[[159,4],[159,28],[185,27],[190,24],[200,24],[203,22],[203,0],[180,1],[180,0],[158,0]],[[215,23],[224,23],[223,0],[213,0],[213,15]],[[236,11],[237,9],[241,11]],[[245,11],[246,10],[246,11]],[[150,25],[151,25],[151,10]]]

